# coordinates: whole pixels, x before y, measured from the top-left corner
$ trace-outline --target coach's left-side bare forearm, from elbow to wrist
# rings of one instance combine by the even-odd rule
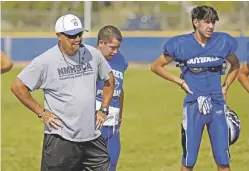
[[[18,79],[11,85],[11,91],[23,105],[35,114],[41,114],[43,108],[33,99],[28,88],[24,84],[21,84]]]

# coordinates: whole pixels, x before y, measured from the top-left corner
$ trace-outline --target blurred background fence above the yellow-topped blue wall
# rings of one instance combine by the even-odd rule
[[[145,2],[144,2],[145,3]],[[249,2],[243,2],[248,7]],[[2,32],[53,32],[54,25],[61,15],[72,13],[77,15],[84,23],[84,11],[73,9],[58,9],[55,3],[47,11],[41,10],[5,10],[1,9]],[[192,6],[165,12],[160,10],[156,2],[138,8],[132,3],[123,3],[125,8],[115,6],[112,9],[98,11],[94,7],[91,13],[91,30],[97,31],[100,27],[111,24],[125,31],[191,31],[192,22],[190,10]],[[145,3],[146,4],[146,3]],[[83,5],[83,4],[81,4]],[[122,5],[122,4],[121,4]],[[130,6],[130,7],[129,7]],[[148,10],[150,8],[150,10]],[[147,10],[144,10],[147,9]],[[245,8],[247,9],[247,8]],[[216,30],[247,31],[249,30],[248,10],[233,10],[232,12],[219,12],[220,21]]]

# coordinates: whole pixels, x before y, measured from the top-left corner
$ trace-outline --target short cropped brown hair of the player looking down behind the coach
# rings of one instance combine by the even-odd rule
[[[99,44],[100,40],[104,41],[105,43],[110,43],[112,42],[112,39],[117,39],[119,42],[121,42],[122,38],[122,34],[118,28],[112,25],[107,25],[99,30],[97,44]]]

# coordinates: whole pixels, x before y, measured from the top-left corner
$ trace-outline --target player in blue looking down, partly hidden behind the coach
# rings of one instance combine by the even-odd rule
[[[122,124],[124,89],[123,79],[124,73],[128,67],[124,56],[118,51],[122,41],[121,32],[114,26],[107,25],[99,30],[98,33],[98,49],[108,61],[115,77],[115,90],[110,103],[109,110],[101,109],[102,89],[104,83],[97,82],[96,110],[102,110],[107,116],[101,128],[108,152],[110,155],[110,171],[115,171],[120,154],[120,134],[119,127]]]

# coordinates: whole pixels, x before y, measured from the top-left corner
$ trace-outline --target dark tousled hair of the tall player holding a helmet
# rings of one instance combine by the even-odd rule
[[[219,21],[219,16],[217,11],[210,6],[202,5],[193,8],[191,11],[192,24],[194,29],[196,29],[193,21],[197,20],[211,20],[212,22]]]

